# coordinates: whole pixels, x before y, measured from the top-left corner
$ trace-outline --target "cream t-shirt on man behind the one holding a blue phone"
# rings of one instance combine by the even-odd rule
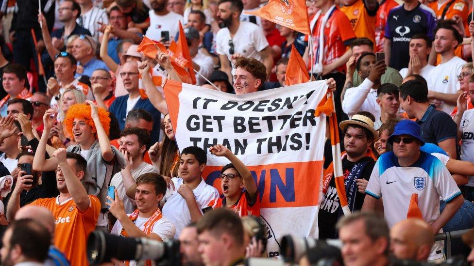
[[[142,162],[135,169],[132,169],[132,177],[136,180],[138,176],[147,172],[156,172],[156,169],[149,163]],[[118,172],[112,177],[110,186],[114,186],[119,192],[119,197],[123,202],[126,213],[135,211],[135,201],[127,197],[125,187],[123,186],[122,172]]]

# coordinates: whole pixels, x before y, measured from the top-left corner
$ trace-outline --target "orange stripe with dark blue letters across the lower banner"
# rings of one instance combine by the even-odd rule
[[[248,166],[257,183],[262,208],[304,207],[318,204],[322,161]],[[221,166],[207,166],[206,183],[220,188]]]

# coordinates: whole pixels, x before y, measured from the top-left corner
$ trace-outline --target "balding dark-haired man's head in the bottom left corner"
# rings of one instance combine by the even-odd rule
[[[51,235],[32,219],[21,219],[7,229],[2,238],[1,265],[44,265]]]

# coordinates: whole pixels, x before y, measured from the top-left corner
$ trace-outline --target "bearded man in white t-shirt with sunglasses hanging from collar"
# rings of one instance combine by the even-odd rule
[[[220,70],[227,74],[231,83],[235,75],[232,61],[237,56],[252,57],[262,62],[266,67],[267,78],[270,77],[273,67],[271,48],[262,28],[251,22],[240,21],[242,10],[241,0],[220,0],[219,2],[217,16],[221,29],[216,35],[216,52],[220,58]],[[262,80],[262,83],[265,80]]]

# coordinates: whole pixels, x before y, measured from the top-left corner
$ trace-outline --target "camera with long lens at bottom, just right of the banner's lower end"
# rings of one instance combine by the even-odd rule
[[[336,258],[340,256],[336,254],[340,252],[335,252],[335,254],[331,254],[334,252],[334,248],[340,248],[339,240],[318,240],[313,238],[294,237],[291,235],[285,235],[282,237],[280,245],[280,254],[283,256],[286,263],[298,263],[301,257],[305,255],[307,250],[315,247],[321,249],[321,251],[325,251],[323,253],[326,253],[327,257],[323,256],[324,259],[330,259],[332,257]]]

